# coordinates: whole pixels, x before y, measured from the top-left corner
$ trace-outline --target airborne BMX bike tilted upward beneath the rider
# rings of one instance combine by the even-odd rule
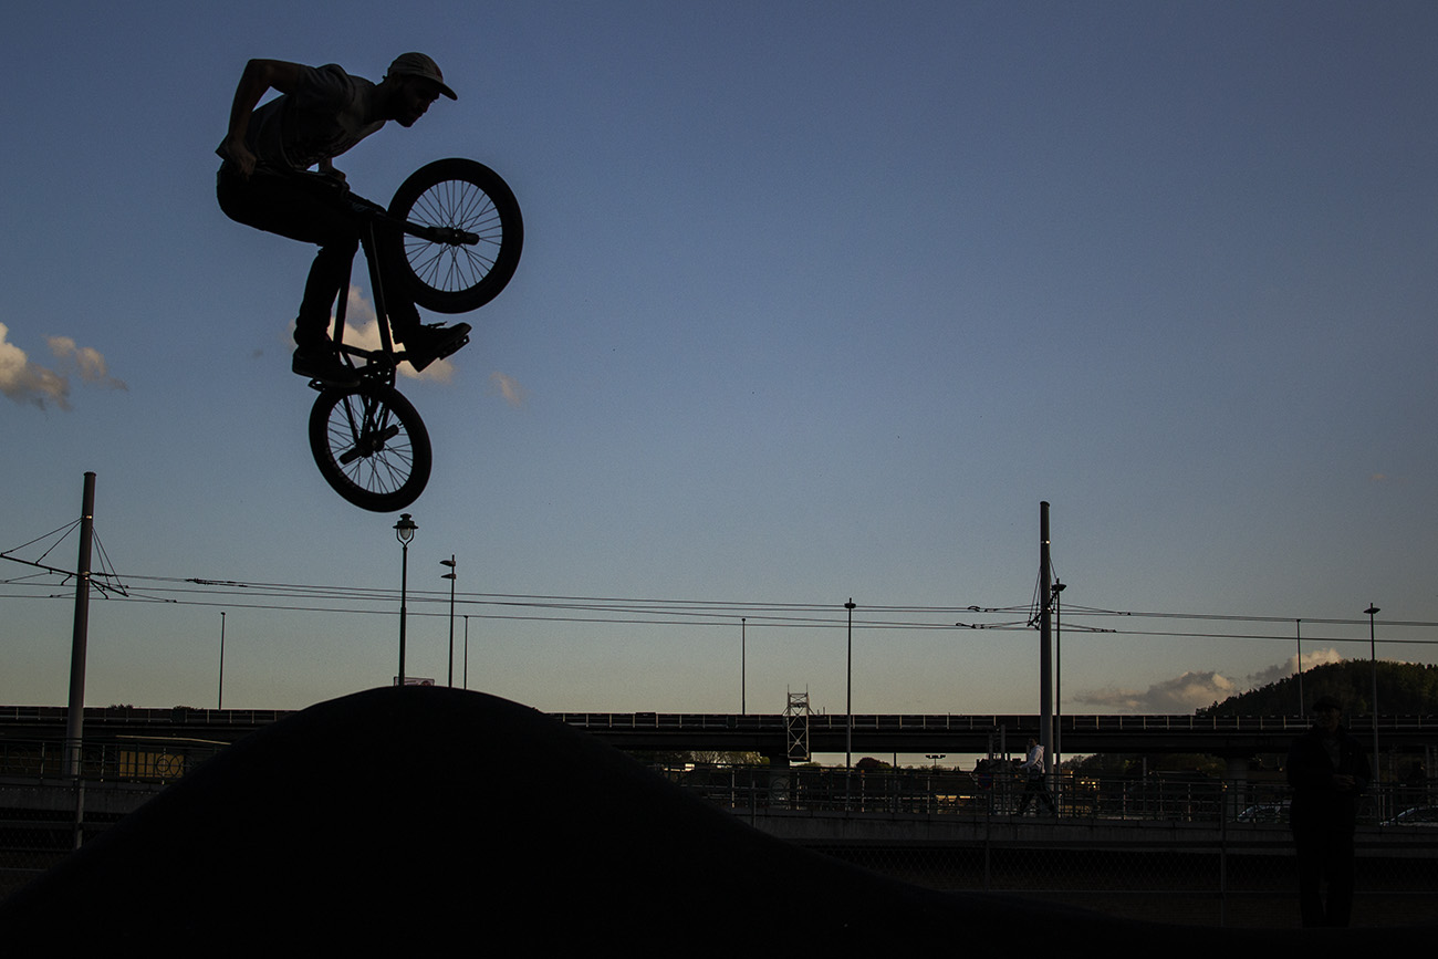
[[[400,184],[388,208],[351,193],[344,198],[361,219],[380,348],[344,342],[347,277],[335,305],[334,342],[358,384],[311,381],[319,397],[309,411],[309,449],[336,493],[362,509],[388,513],[424,492],[433,450],[418,411],[394,385],[406,354],[395,349],[383,276],[403,288],[390,293],[416,306],[440,313],[479,309],[515,275],[523,221],[499,174],[473,160],[421,167]],[[467,336],[454,348],[466,342]]]

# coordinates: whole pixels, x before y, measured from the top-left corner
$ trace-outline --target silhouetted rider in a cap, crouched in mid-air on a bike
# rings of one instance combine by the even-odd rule
[[[280,96],[256,109],[270,89]],[[397,121],[411,127],[440,95],[457,99],[440,68],[423,53],[404,53],[380,83],[345,73],[339,66],[302,66],[285,60],[250,60],[234,91],[230,129],[216,151],[220,165],[216,194],[232,220],[305,243],[318,243],[305,296],[295,321],[293,371],[326,385],[358,382],[329,339],[335,298],[345,295],[349,265],[360,246],[360,213],[344,201],[344,174],[334,158]],[[322,175],[305,174],[316,167]],[[469,324],[420,324],[420,313],[401,295],[398,276],[380,265],[394,338],[407,359],[424,370],[464,345]]]

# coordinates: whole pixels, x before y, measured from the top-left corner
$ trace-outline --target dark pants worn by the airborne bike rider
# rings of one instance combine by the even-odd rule
[[[244,180],[229,164],[220,167],[216,196],[224,214],[237,223],[319,244],[295,319],[295,342],[325,341],[335,298],[347,293],[349,265],[360,247],[360,213],[338,185],[265,173]],[[383,276],[383,282],[394,335],[403,341],[407,331],[418,326],[418,311],[401,295],[398,277]]]

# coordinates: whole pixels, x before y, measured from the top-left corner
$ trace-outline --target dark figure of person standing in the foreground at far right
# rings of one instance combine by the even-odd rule
[[[1310,713],[1313,729],[1293,740],[1287,763],[1299,906],[1304,926],[1347,926],[1353,912],[1353,830],[1357,797],[1369,782],[1368,753],[1340,725],[1339,700],[1320,696]]]

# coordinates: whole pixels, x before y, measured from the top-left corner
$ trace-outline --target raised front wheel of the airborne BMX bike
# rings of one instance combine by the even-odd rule
[[[417,226],[475,233],[473,246],[387,231],[385,254],[400,265],[410,299],[440,313],[467,313],[499,296],[519,266],[525,224],[498,173],[453,157],[416,170],[390,201],[390,216]]]

